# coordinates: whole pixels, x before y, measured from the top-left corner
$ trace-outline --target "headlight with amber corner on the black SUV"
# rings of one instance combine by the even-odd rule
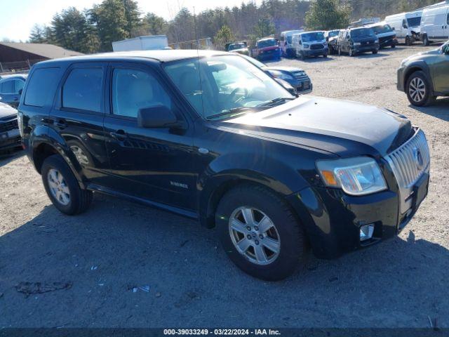
[[[369,157],[317,161],[316,167],[328,187],[341,187],[350,195],[364,195],[387,189],[377,162]]]

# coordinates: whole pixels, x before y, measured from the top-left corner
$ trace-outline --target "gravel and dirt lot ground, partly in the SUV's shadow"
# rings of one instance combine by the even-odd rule
[[[63,216],[19,153],[0,159],[0,328],[449,326],[449,99],[417,110],[396,91],[401,60],[424,50],[281,61],[304,67],[315,95],[388,107],[427,133],[429,197],[398,238],[262,282],[192,220],[100,194]]]

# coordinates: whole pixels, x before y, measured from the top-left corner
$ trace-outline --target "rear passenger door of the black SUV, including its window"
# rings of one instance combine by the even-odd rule
[[[107,63],[82,62],[64,74],[56,103],[48,115],[53,135],[64,140],[67,153],[88,183],[107,185],[109,160],[103,119]]]

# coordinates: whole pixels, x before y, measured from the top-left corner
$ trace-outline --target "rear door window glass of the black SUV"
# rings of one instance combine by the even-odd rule
[[[75,68],[62,87],[62,107],[101,112],[103,70]]]

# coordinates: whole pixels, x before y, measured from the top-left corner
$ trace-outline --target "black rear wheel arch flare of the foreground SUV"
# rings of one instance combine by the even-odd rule
[[[35,164],[36,160],[34,160],[34,154],[36,153],[36,149],[43,144],[53,147],[53,149],[55,149],[56,152],[58,152],[58,154],[60,154],[61,157],[64,158],[65,162],[74,173],[76,180],[78,180],[81,188],[86,188],[86,184],[84,183],[86,179],[83,176],[81,165],[76,160],[75,155],[69,149],[64,138],[62,138],[56,131],[54,131],[52,128],[49,128],[48,126],[38,126],[30,135],[29,147],[32,149],[31,156],[33,157],[32,161],[34,164],[34,168],[38,170]]]

